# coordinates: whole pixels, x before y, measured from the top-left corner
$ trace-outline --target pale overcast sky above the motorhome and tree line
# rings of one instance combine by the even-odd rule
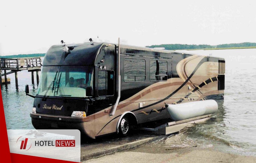
[[[256,42],[255,1],[1,1],[0,55],[89,38],[134,46]]]

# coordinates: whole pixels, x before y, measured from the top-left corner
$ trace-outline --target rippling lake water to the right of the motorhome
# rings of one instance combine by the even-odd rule
[[[177,140],[256,156],[256,49],[180,52],[224,58],[226,73],[224,100],[217,101],[216,117],[175,135]]]

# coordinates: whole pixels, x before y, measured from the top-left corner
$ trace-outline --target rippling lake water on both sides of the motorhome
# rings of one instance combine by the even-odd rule
[[[256,156],[256,49],[179,51],[226,60],[224,100],[218,100],[216,116],[205,123],[195,124],[180,134],[158,141],[168,147],[202,146]],[[40,73],[39,73],[40,74]],[[36,83],[36,73],[35,83]],[[11,84],[1,88],[7,129],[33,129],[29,113],[34,98],[26,96],[25,85],[35,94],[37,84],[32,84],[31,73],[18,72],[19,89],[15,76]]]

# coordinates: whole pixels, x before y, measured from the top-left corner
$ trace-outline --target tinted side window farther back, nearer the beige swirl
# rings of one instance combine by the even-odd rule
[[[167,61],[150,60],[150,81],[167,81]]]

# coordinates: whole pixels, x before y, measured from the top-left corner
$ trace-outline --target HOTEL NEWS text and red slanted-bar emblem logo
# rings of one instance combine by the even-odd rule
[[[18,142],[19,138],[17,139],[16,143]],[[28,142],[28,138],[25,138],[25,140],[22,140],[20,144],[20,149],[26,149],[27,142]],[[75,140],[55,140],[55,144],[53,142],[54,141],[35,141],[35,146],[55,146],[55,147],[75,147],[76,146]],[[29,150],[31,146],[32,144],[30,144],[30,147],[27,150]]]

